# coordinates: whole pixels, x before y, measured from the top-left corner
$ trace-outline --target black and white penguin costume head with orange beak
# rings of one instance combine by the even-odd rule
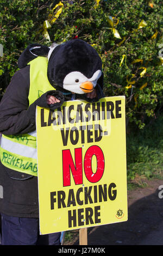
[[[97,82],[103,87],[102,60],[83,40],[70,40],[51,47],[31,44],[18,59],[18,67],[23,68],[38,56],[48,58],[47,77],[55,89],[85,94],[92,92]]]

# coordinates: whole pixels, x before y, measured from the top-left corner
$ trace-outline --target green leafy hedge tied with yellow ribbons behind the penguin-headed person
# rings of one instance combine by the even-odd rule
[[[163,95],[162,65],[158,58],[163,44],[162,1],[61,1],[64,8],[52,22],[61,8],[53,10],[58,2],[0,0],[0,44],[4,47],[0,57],[1,92],[17,70],[18,56],[28,44],[51,45],[53,41],[79,38],[95,47],[103,60],[105,95],[126,96],[129,125],[142,128],[156,118],[162,109]],[[47,30],[51,41],[43,33],[45,20],[51,23]],[[142,20],[146,26],[139,28]],[[114,29],[121,38],[114,36]],[[133,63],[137,59],[141,61]],[[142,71],[146,72],[141,76]]]

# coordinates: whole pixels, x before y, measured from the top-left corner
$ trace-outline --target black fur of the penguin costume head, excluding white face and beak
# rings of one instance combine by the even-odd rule
[[[50,47],[47,46],[30,44],[18,59],[18,67],[24,68],[37,56],[47,57],[49,50]],[[67,92],[63,89],[63,81],[67,74],[79,71],[90,78],[97,70],[102,71],[102,60],[96,50],[85,41],[75,39],[54,48],[48,60],[47,77],[55,89]],[[103,88],[103,73],[97,84]]]

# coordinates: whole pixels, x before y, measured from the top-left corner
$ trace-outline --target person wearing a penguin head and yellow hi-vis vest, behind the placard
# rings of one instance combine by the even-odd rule
[[[60,245],[60,233],[39,235],[36,106],[53,111],[67,100],[104,97],[102,61],[76,39],[30,44],[18,68],[0,102],[2,245]]]

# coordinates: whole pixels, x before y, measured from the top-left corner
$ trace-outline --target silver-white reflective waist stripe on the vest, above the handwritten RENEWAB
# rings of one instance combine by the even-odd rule
[[[10,141],[3,137],[1,138],[1,148],[9,151],[12,154],[17,154],[20,156],[30,157],[37,159],[37,150],[36,148],[31,148],[29,146],[19,144],[17,147],[17,143],[14,141]]]

